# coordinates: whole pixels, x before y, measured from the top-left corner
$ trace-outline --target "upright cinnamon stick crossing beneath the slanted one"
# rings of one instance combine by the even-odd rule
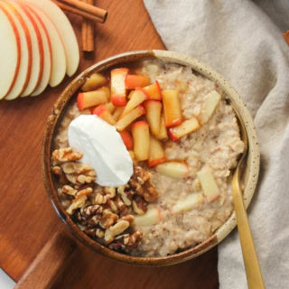
[[[94,5],[94,0],[82,0],[83,2]],[[94,23],[89,19],[83,19],[81,24],[82,51],[94,51]]]

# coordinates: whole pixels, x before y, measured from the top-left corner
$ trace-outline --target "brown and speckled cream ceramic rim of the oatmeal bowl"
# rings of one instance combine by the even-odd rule
[[[172,63],[191,67],[192,70],[199,72],[203,76],[218,84],[219,87],[226,93],[232,105],[238,109],[238,113],[242,117],[247,128],[248,135],[247,165],[243,174],[244,201],[246,207],[248,206],[256,188],[260,158],[259,146],[257,144],[256,130],[254,127],[253,119],[247,111],[243,100],[238,96],[236,90],[233,89],[228,84],[228,82],[219,75],[218,72],[212,70],[208,65],[203,64],[200,61],[172,51],[131,51],[118,54],[108,58],[105,61],[98,62],[97,64],[91,66],[88,70],[83,71],[76,79],[72,80],[70,85],[62,92],[60,98],[58,98],[52,109],[51,116],[48,117],[47,120],[42,149],[42,172],[45,189],[48,192],[54,209],[57,211],[68,228],[70,228],[70,231],[73,233],[73,235],[82,243],[91,247],[93,250],[106,256],[112,257],[118,261],[144,266],[166,266],[181,263],[196,256],[200,256],[204,252],[210,250],[211,247],[216,246],[223,238],[228,236],[233,228],[235,228],[235,212],[232,213],[229,219],[215,232],[213,236],[196,247],[191,247],[180,253],[163,257],[128,256],[125,254],[117,253],[108,249],[107,247],[100,245],[98,242],[89,238],[78,228],[78,226],[70,219],[66,211],[61,207],[61,202],[58,199],[57,190],[55,189],[53,177],[51,175],[51,143],[56,130],[55,128],[58,125],[58,122],[61,120],[62,113],[64,112],[70,98],[75,95],[76,91],[84,83],[86,77],[96,71],[107,70],[113,66],[129,61],[140,61],[144,59],[169,61]]]

